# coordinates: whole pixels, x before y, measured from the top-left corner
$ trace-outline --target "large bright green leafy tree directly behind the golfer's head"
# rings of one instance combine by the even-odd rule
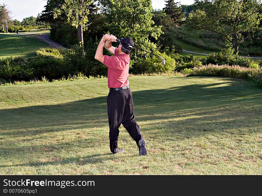
[[[137,47],[144,50],[156,49],[155,44],[149,41],[149,36],[157,39],[162,32],[160,26],[153,26],[151,0],[110,0],[107,3],[110,33],[117,37],[130,37]],[[137,59],[140,51],[134,50],[131,54]]]

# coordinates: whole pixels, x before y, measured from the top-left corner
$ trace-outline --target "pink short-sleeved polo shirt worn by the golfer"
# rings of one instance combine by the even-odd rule
[[[127,54],[118,54],[118,48],[115,49],[114,56],[104,55],[103,64],[108,67],[107,85],[108,88],[120,88],[129,85],[128,71],[130,56]]]

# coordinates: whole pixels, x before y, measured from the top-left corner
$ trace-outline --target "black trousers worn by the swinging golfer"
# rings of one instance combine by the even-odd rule
[[[118,128],[121,124],[138,145],[139,140],[143,139],[143,136],[135,121],[133,97],[130,88],[109,92],[107,96],[107,114],[111,152],[117,148]]]

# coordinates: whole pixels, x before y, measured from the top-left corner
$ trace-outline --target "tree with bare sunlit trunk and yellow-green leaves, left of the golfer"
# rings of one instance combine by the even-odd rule
[[[77,28],[77,40],[81,44],[82,54],[84,52],[83,31],[88,26],[89,7],[94,3],[94,0],[65,0],[61,8],[54,9],[54,18],[61,15],[62,10],[68,18],[68,22]]]

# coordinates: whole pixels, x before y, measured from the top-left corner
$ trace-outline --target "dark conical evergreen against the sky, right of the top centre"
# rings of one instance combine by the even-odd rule
[[[167,0],[166,7],[163,10],[169,15],[174,24],[181,25],[185,22],[185,13],[182,12],[182,8],[179,6],[179,2],[174,0]]]

